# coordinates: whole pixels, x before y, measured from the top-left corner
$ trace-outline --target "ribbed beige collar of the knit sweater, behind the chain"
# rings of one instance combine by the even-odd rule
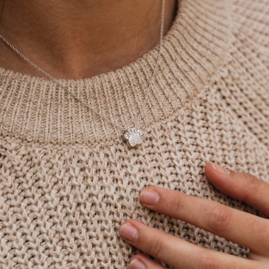
[[[182,0],[139,123],[146,132],[199,93],[222,64],[230,36],[229,0]],[[143,104],[158,46],[115,72],[61,80],[68,89],[124,128]],[[0,135],[43,144],[111,144],[122,131],[74,99],[53,80],[0,68]]]

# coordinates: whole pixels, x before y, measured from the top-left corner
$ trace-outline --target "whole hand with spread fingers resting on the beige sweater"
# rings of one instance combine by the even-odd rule
[[[221,192],[269,216],[269,184],[247,173],[205,166],[207,178]],[[144,206],[177,218],[250,249],[250,259],[205,249],[136,220],[125,221],[120,234],[124,240],[178,269],[268,269],[269,220],[212,200],[160,187],[140,193]],[[144,254],[132,257],[132,269],[163,269]]]

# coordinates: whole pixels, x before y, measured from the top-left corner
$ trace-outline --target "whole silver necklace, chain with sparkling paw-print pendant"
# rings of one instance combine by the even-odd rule
[[[141,111],[139,113],[136,125],[133,128],[128,128],[128,129],[124,129],[122,126],[119,126],[118,124],[116,124],[115,122],[111,121],[110,119],[106,118],[104,115],[100,114],[98,111],[94,110],[94,108],[92,108],[90,105],[88,105],[86,102],[84,102],[82,99],[78,98],[76,94],[74,94],[72,91],[70,91],[69,89],[67,89],[67,87],[63,86],[62,83],[60,83],[58,80],[56,80],[54,77],[50,76],[48,73],[46,73],[45,71],[43,71],[41,68],[39,68],[37,65],[35,65],[33,62],[31,62],[29,59],[27,59],[23,54],[21,54],[16,48],[14,48],[5,38],[3,38],[3,36],[0,37],[2,38],[3,41],[5,41],[6,44],[8,44],[14,51],[17,52],[17,54],[19,54],[23,59],[25,59],[27,62],[29,62],[31,65],[33,65],[36,69],[38,69],[40,72],[42,72],[44,75],[46,75],[47,77],[49,77],[50,79],[54,80],[58,85],[60,85],[61,87],[63,87],[63,89],[65,89],[66,91],[68,91],[71,95],[73,95],[73,97],[75,97],[78,101],[80,101],[82,104],[84,104],[86,107],[88,107],[89,109],[91,109],[93,112],[95,112],[95,114],[97,114],[98,116],[100,116],[101,118],[105,119],[106,121],[110,122],[112,125],[116,126],[117,128],[121,129],[124,131],[123,133],[123,140],[126,141],[127,145],[129,147],[134,147],[136,145],[141,145],[143,143],[143,139],[142,139],[142,135],[143,135],[143,130],[142,129],[138,129],[138,123],[141,119],[141,115],[143,113],[145,104],[147,102],[148,99],[148,94],[151,90],[152,87],[152,83],[156,74],[156,70],[157,67],[159,65],[160,62],[160,56],[161,56],[161,51],[162,51],[162,36],[163,36],[163,28],[164,28],[164,11],[165,11],[165,0],[162,0],[162,12],[161,12],[161,37],[160,37],[160,46],[159,46],[159,54],[157,57],[157,62],[155,64],[155,68],[153,71],[153,75],[151,77],[150,80],[150,84],[148,85],[148,90],[144,99],[144,103],[143,106],[141,108]]]

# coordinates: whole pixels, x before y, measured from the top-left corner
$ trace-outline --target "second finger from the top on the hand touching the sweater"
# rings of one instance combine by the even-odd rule
[[[148,196],[146,196],[148,194]],[[153,197],[158,197],[158,201]],[[148,198],[146,198],[148,197]],[[225,206],[212,200],[190,196],[161,187],[141,192],[141,202],[168,217],[183,220],[208,232],[268,256],[269,222],[267,219]],[[150,202],[157,201],[150,205]]]

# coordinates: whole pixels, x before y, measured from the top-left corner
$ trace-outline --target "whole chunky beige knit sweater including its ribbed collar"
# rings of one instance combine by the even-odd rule
[[[161,186],[259,214],[218,192],[204,165],[269,182],[268,29],[268,0],[179,1],[139,125],[145,142],[134,148],[54,81],[0,68],[0,268],[129,268],[140,251],[119,227],[130,218],[248,257],[148,210],[139,193]],[[158,46],[121,70],[61,82],[131,127],[157,55]]]

